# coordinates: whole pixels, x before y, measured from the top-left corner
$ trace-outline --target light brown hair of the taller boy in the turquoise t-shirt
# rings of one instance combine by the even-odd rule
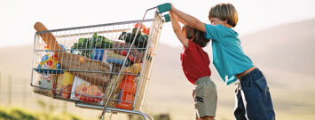
[[[208,17],[209,20],[211,18],[227,20],[227,24],[231,25],[233,28],[239,20],[238,13],[232,4],[217,4],[211,7]]]

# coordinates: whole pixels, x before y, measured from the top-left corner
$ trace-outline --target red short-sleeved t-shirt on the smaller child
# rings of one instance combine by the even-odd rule
[[[188,48],[184,46],[184,52],[180,54],[180,60],[182,61],[184,74],[192,84],[203,76],[211,76],[208,53],[204,52],[199,44],[188,40]]]

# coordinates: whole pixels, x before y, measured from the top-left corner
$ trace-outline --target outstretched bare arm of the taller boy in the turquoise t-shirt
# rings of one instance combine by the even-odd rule
[[[169,12],[174,12],[178,18],[185,21],[185,23],[191,26],[192,28],[196,28],[196,29],[201,30],[202,32],[206,32],[206,27],[203,22],[201,22],[200,20],[197,20],[196,18],[194,18],[193,16],[189,14],[186,14],[185,12],[181,12],[177,10],[173,4],[171,4],[171,9]]]

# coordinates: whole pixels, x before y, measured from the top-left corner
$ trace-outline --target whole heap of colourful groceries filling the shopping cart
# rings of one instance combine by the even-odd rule
[[[122,31],[116,40],[93,32],[66,46],[59,44],[52,34],[40,35],[47,51],[35,69],[38,88],[34,92],[97,105],[104,105],[107,100],[104,98],[109,98],[110,108],[132,109],[150,31],[139,26],[137,23],[134,28]],[[114,92],[109,96],[112,88]]]

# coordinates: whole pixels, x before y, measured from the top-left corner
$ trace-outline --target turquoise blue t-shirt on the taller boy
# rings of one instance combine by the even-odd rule
[[[205,27],[206,38],[212,39],[213,64],[225,84],[234,83],[237,80],[234,75],[254,67],[240,46],[237,32],[222,25],[205,24]]]

